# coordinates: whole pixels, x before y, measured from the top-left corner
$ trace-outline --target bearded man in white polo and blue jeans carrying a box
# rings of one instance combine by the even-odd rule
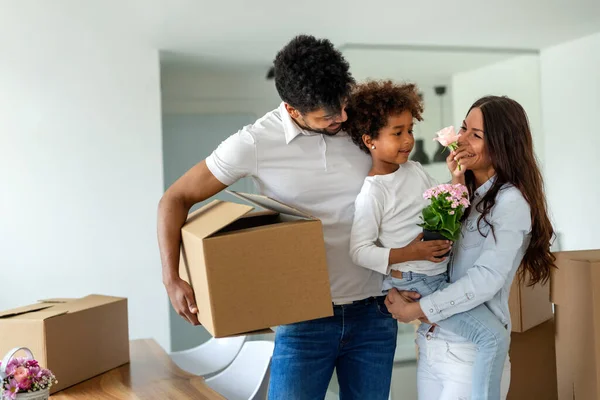
[[[269,398],[322,399],[335,368],[344,399],[387,399],[397,323],[383,275],[349,255],[354,200],[371,166],[341,131],[354,79],[331,42],[298,36],[277,54],[275,84],[279,108],[225,140],[161,199],[163,282],[175,310],[197,325],[194,293],[178,275],[181,227],[195,203],[252,177],[261,194],[322,221],[334,302],[332,317],[277,328]]]

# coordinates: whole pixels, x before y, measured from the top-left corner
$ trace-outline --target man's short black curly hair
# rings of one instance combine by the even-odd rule
[[[354,85],[348,62],[327,39],[296,36],[277,53],[274,64],[279,96],[302,114],[319,108],[341,112]]]

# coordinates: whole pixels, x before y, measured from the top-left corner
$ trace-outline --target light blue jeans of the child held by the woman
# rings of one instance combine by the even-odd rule
[[[391,278],[392,286],[398,290],[418,292],[421,296],[443,289],[448,283],[447,273],[434,276],[413,272],[402,274],[402,279]],[[504,362],[510,346],[510,332],[506,327],[485,304],[455,314],[437,324],[477,345],[471,399],[499,400]]]

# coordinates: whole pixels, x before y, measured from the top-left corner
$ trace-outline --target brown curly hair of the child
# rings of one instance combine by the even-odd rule
[[[404,111],[410,111],[414,119],[423,121],[423,101],[417,85],[368,81],[357,85],[350,95],[346,108],[348,120],[344,122],[343,129],[358,147],[369,154],[363,135],[376,139],[379,131],[387,125],[388,118]]]

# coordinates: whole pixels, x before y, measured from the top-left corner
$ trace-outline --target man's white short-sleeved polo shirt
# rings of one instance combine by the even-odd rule
[[[350,258],[354,201],[371,157],[346,133],[327,136],[300,129],[282,103],[222,142],[206,165],[224,185],[251,177],[259,193],[322,221],[334,302],[382,294],[384,275]]]

